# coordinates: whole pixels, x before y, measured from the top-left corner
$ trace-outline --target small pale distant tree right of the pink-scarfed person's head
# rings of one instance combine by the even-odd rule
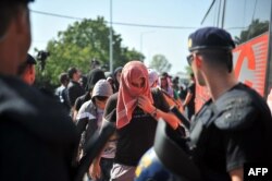
[[[168,59],[163,55],[156,55],[149,65],[150,68],[157,70],[159,73],[169,72],[172,64],[169,63]]]

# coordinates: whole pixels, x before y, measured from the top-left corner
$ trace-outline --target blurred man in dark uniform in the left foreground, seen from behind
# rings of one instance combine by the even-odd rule
[[[17,79],[30,46],[28,1],[0,1],[0,180],[67,181],[76,129],[60,104]]]

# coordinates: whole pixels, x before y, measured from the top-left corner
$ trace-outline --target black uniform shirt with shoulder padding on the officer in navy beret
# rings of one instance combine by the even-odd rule
[[[271,133],[271,112],[262,97],[237,84],[196,114],[190,131],[195,161],[205,180],[230,180],[228,172],[246,162],[272,162]]]

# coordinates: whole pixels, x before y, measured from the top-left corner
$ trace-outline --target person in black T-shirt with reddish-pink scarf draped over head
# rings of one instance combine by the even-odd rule
[[[163,118],[174,130],[178,128],[178,119],[168,111],[164,99],[152,97],[145,64],[140,61],[126,63],[120,89],[108,99],[103,116],[103,121],[116,125],[118,145],[111,180],[134,180],[140,157],[153,145],[158,118]]]

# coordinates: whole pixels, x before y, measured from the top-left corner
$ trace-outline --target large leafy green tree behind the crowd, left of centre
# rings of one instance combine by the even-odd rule
[[[50,56],[46,60],[46,69],[37,73],[37,82],[58,85],[58,76],[70,67],[78,68],[83,73],[90,70],[90,60],[97,59],[101,65],[109,68],[109,29],[103,17],[83,20],[70,25],[67,29],[58,33],[57,39],[51,39],[46,51]],[[133,59],[139,59],[141,53],[122,47],[121,35],[113,31],[113,69],[124,65]]]

